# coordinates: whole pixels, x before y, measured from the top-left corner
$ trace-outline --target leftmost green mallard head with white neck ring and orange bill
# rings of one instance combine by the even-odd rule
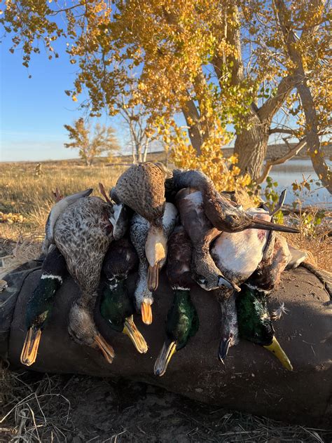
[[[27,336],[21,353],[21,363],[31,366],[37,357],[41,334],[53,308],[55,293],[67,273],[66,261],[53,245],[41,267],[41,279],[27,303],[25,323]]]

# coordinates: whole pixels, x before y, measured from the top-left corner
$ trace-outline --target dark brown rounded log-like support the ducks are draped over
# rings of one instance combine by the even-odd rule
[[[25,307],[39,281],[40,269],[11,273],[6,292],[0,294],[0,355],[11,369],[27,370],[20,363],[25,339]],[[134,287],[134,278],[128,282]],[[200,329],[183,350],[175,353],[165,376],[153,375],[153,365],[164,341],[165,318],[172,291],[165,272],[153,304],[153,323],[139,316],[137,327],[146,338],[148,353],[137,353],[127,336],[117,334],[96,312],[99,330],[116,351],[113,364],[101,353],[78,346],[67,332],[67,313],[78,294],[71,278],[57,292],[55,308],[43,332],[36,362],[29,369],[61,374],[126,377],[161,386],[200,402],[305,425],[332,423],[332,318],[331,300],[321,282],[305,268],[285,271],[270,295],[270,312],[284,302],[288,315],[275,322],[276,336],[293,364],[286,371],[261,346],[247,341],[230,348],[226,365],[217,357],[220,313],[216,299],[200,288],[192,299]]]

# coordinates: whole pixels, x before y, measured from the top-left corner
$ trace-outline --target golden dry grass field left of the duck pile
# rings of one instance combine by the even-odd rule
[[[25,233],[42,235],[48,212],[53,205],[52,191],[58,187],[64,195],[93,188],[98,194],[98,183],[106,189],[115,184],[123,165],[105,165],[85,168],[65,162],[43,165],[36,175],[36,163],[7,163],[0,173],[0,211],[20,213],[22,224],[0,224],[0,237],[18,240]]]

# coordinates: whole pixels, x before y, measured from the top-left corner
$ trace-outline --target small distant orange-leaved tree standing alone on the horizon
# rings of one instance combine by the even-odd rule
[[[66,148],[79,149],[78,154],[86,166],[91,166],[97,156],[111,154],[120,149],[114,130],[111,126],[95,125],[94,134],[91,135],[90,125],[86,126],[83,118],[74,121],[74,126],[64,125],[69,132],[71,143],[64,143]]]

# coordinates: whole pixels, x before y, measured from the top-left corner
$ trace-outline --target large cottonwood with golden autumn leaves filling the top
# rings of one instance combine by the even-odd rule
[[[284,8],[283,19],[280,4],[270,0],[91,0],[71,6],[7,0],[1,21],[13,34],[11,50],[22,46],[26,66],[39,41],[50,57],[57,56],[53,41],[67,44],[78,66],[71,95],[76,100],[86,87],[94,115],[104,107],[109,114],[119,111],[118,96],[134,71],[136,102],[186,164],[193,155],[219,158],[233,135],[237,166],[259,181],[270,136],[291,131],[299,142],[305,137],[314,169],[331,190],[317,140],[331,111],[328,4],[290,0]],[[317,128],[311,130],[313,110]],[[179,127],[179,113],[188,134]],[[291,114],[291,128],[279,125],[282,113]]]

